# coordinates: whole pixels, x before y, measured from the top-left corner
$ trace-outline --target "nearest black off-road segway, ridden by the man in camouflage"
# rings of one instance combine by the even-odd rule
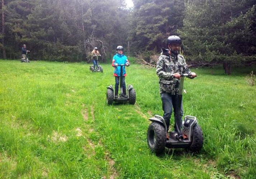
[[[177,105],[175,112],[175,126],[174,132],[168,132],[169,139],[166,139],[166,123],[162,116],[155,115],[149,120],[152,123],[148,126],[147,131],[147,144],[150,150],[155,154],[162,154],[167,148],[186,148],[191,152],[198,153],[203,147],[203,132],[198,125],[198,121],[194,116],[185,116],[182,121],[182,126],[179,125],[181,119],[181,102],[182,102],[182,89],[184,77],[188,74],[181,74],[179,93],[176,94],[175,102]],[[185,136],[185,137],[184,137]]]

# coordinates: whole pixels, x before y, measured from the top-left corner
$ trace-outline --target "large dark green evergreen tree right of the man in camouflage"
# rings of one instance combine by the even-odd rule
[[[191,60],[246,64],[256,59],[255,20],[254,0],[188,1],[178,32]]]

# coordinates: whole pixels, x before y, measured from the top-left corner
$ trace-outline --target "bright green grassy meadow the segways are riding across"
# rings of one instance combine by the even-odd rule
[[[163,113],[155,69],[132,63],[135,105],[108,106],[113,67],[89,66],[0,60],[0,178],[256,178],[256,86],[245,80],[256,68],[191,69],[184,115],[198,118],[203,149],[156,156],[146,139],[148,118]]]

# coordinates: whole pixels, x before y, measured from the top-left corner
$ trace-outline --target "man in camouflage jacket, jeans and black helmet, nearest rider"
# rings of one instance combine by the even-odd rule
[[[194,78],[196,76],[194,72],[190,72],[184,57],[179,54],[180,45],[181,39],[178,36],[170,36],[167,39],[168,49],[162,48],[162,52],[156,66],[156,73],[159,77],[159,88],[162,99],[163,118],[167,125],[167,139],[169,139],[167,132],[170,126],[172,108],[174,108],[174,112],[176,110],[175,95],[179,91],[180,74],[190,74],[190,78]],[[183,108],[181,103],[181,116],[182,115]],[[179,123],[181,126],[182,121],[179,121]],[[174,130],[176,131],[175,127]]]

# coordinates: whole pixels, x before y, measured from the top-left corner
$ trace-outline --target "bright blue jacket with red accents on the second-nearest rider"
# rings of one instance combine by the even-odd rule
[[[112,67],[115,67],[114,69],[114,76],[120,77],[120,70],[121,70],[121,66],[115,66],[115,64],[118,65],[122,65],[122,64],[129,64],[130,62],[128,61],[127,57],[124,54],[115,54],[113,57],[113,61],[112,61]],[[123,76],[126,76],[126,72],[125,72],[125,66],[123,66]]]

